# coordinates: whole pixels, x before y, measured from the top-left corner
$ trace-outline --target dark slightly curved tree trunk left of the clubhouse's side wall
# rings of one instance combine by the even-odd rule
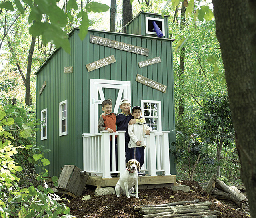
[[[32,98],[30,95],[30,77],[31,77],[31,67],[32,67],[32,57],[35,48],[36,37],[32,36],[30,49],[28,53],[28,65],[27,65],[27,76],[26,76],[26,95],[25,103],[26,105],[32,105]]]

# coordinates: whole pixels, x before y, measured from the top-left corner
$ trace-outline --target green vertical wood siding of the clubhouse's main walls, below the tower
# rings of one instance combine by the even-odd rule
[[[110,33],[88,30],[81,41],[78,29],[70,34],[71,54],[62,48],[37,71],[37,116],[48,109],[48,139],[38,145],[44,145],[51,152],[46,155],[51,165],[50,176],[59,176],[60,168],[73,164],[82,168],[82,134],[90,133],[90,79],[110,79],[131,82],[132,105],[140,105],[140,100],[160,100],[162,106],[162,130],[169,130],[170,143],[175,140],[174,128],[174,89],[172,69],[172,40],[166,38],[133,36],[132,34]],[[149,49],[149,56],[143,56],[106,46],[90,43],[90,35],[126,42]],[[86,64],[114,55],[116,62],[94,71],[87,71]],[[153,57],[161,57],[160,63],[139,68],[138,62]],[[73,73],[63,73],[63,68],[73,66]],[[158,83],[167,85],[166,93],[152,89],[135,81],[140,74]],[[46,81],[46,87],[39,96],[39,90]],[[106,97],[117,96],[113,89],[105,89]],[[68,135],[59,136],[59,103],[68,100]],[[99,107],[101,113],[101,107]],[[170,145],[171,146],[171,145]],[[176,174],[174,157],[171,158],[171,174]]]

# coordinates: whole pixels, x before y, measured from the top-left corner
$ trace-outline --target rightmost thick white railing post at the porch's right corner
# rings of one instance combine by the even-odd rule
[[[170,159],[169,159],[169,133],[170,131],[162,131],[162,163],[164,168],[164,175],[169,176],[170,174]]]

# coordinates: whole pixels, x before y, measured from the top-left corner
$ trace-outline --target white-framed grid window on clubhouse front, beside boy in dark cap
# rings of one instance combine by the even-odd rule
[[[141,105],[146,125],[161,131],[161,101],[141,100]]]

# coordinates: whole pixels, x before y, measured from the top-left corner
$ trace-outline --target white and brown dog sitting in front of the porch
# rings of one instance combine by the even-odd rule
[[[126,194],[127,198],[130,198],[130,194],[134,191],[133,186],[135,185],[135,198],[139,198],[138,196],[138,171],[140,171],[140,163],[132,159],[126,163],[126,170],[120,176],[115,190],[116,196],[120,197],[122,194]],[[131,194],[134,196],[134,194]]]

